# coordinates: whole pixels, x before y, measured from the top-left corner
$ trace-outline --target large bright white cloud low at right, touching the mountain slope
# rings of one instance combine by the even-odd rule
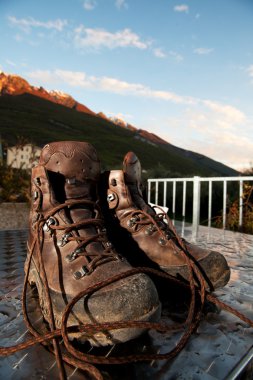
[[[180,119],[168,120],[170,142],[241,169],[252,160],[253,125],[235,107],[201,100],[188,107]],[[168,138],[168,136],[162,136]]]

